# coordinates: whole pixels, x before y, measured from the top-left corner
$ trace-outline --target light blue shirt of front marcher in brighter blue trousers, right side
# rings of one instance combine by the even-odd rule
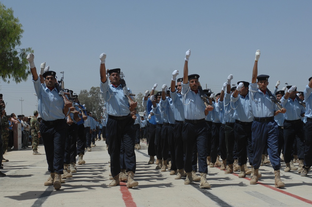
[[[258,89],[257,83],[250,83],[248,95],[254,117],[272,117],[274,116],[274,111],[278,110],[276,104],[271,101],[268,93],[264,94]]]

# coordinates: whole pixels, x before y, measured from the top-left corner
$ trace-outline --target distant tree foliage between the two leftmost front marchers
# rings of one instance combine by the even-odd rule
[[[100,87],[91,87],[90,91],[81,90],[78,99],[80,104],[85,104],[87,110],[92,112],[93,117],[100,118],[104,107]]]

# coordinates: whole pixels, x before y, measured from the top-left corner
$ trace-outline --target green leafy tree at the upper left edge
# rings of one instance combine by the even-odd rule
[[[16,83],[26,81],[30,75],[30,68],[26,60],[32,48],[18,48],[22,43],[22,24],[13,15],[12,8],[6,8],[0,2],[0,77],[4,82]]]

